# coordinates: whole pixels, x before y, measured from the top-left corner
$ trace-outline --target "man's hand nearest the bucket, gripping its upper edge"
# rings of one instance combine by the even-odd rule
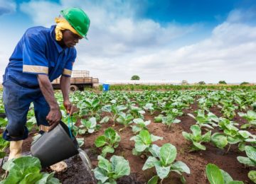
[[[50,130],[53,130],[53,128],[55,128],[58,123],[61,120],[61,112],[60,112],[60,108],[56,107],[56,108],[50,108],[50,112],[48,113],[48,115],[46,116],[46,120],[48,121],[50,128]]]

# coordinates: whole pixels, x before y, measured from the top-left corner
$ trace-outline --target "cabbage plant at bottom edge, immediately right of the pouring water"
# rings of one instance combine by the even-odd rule
[[[130,167],[129,162],[122,156],[112,156],[110,161],[98,156],[98,166],[94,170],[95,178],[101,183],[116,184],[118,178],[122,176],[129,176]]]

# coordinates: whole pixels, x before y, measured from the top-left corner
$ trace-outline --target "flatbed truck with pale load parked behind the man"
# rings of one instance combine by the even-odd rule
[[[52,82],[53,89],[60,89],[60,78]],[[90,71],[87,70],[73,70],[70,79],[70,91],[83,91],[85,87],[99,86],[99,79],[90,76]]]

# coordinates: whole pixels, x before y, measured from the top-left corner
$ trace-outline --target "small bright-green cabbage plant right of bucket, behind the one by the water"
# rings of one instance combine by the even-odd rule
[[[102,147],[102,156],[105,157],[107,153],[114,153],[114,148],[117,148],[121,137],[112,128],[105,130],[104,134],[95,139],[95,146]]]

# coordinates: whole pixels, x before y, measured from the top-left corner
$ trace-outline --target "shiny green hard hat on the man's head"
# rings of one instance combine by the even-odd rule
[[[82,37],[86,38],[90,27],[90,18],[81,8],[66,8],[60,11],[60,14]]]

